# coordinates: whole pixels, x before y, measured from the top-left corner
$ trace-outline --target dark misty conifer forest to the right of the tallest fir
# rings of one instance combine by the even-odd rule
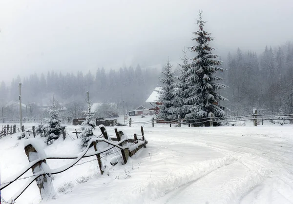
[[[259,114],[293,114],[293,44],[266,46],[259,56],[240,48],[229,53],[225,90],[230,114],[241,116],[257,108]]]

